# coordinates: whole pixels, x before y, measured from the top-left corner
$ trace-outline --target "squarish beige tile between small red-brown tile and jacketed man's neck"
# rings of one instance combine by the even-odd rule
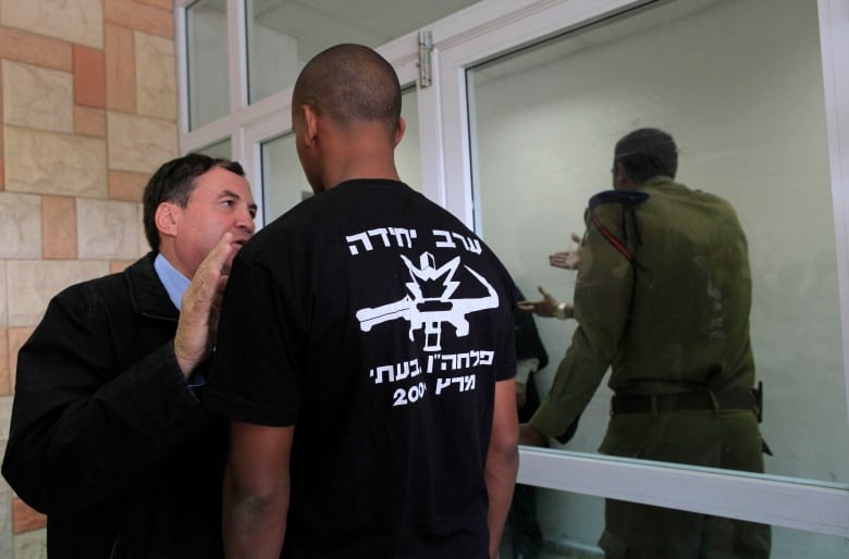
[[[79,198],[76,201],[79,259],[132,259],[138,252],[137,204]]]

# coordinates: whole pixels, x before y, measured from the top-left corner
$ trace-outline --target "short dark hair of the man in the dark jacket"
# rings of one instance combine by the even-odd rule
[[[155,252],[159,252],[159,229],[156,224],[157,208],[162,202],[174,202],[181,208],[188,204],[188,198],[195,189],[195,179],[213,167],[223,167],[238,176],[245,176],[245,170],[236,161],[211,158],[204,153],[188,153],[172,159],[160,166],[145,187],[142,197],[144,204],[145,236]]]

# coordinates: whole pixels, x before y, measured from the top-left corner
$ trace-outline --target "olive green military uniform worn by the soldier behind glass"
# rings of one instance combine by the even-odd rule
[[[610,367],[601,452],[763,472],[751,275],[734,209],[659,176],[596,195],[586,219],[578,328],[531,425],[565,433]],[[752,559],[768,557],[770,529],[607,500],[600,545],[608,558]]]

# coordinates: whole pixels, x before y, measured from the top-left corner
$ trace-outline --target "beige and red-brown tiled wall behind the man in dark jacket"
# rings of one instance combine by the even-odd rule
[[[144,186],[177,154],[172,0],[0,0],[0,452],[17,350],[63,287],[147,251]],[[0,559],[46,557],[0,480]]]

